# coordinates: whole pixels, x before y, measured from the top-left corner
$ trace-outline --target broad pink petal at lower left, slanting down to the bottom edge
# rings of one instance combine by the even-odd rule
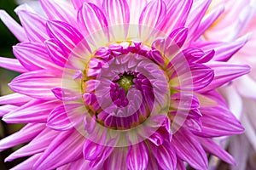
[[[84,136],[76,130],[59,133],[33,166],[33,169],[55,169],[83,157]],[[68,153],[68,154],[63,154]]]

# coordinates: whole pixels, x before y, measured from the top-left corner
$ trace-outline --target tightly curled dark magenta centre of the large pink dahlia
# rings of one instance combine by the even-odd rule
[[[169,94],[166,75],[151,52],[141,42],[96,50],[84,72],[83,97],[97,123],[109,129],[131,129],[146,122],[152,112],[166,108],[168,103],[160,104]]]

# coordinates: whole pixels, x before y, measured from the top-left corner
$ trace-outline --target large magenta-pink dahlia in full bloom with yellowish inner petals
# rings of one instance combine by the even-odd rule
[[[0,150],[14,169],[207,169],[207,154],[235,164],[214,137],[243,132],[217,88],[250,71],[224,62],[248,36],[198,42],[224,8],[211,1],[40,1],[20,5],[15,94],[0,98],[3,121],[27,123]]]

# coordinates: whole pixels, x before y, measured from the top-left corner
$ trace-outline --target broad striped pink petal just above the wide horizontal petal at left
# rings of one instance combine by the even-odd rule
[[[29,71],[60,69],[49,59],[49,54],[46,53],[46,48],[41,43],[22,42],[15,45],[13,51],[21,65]]]

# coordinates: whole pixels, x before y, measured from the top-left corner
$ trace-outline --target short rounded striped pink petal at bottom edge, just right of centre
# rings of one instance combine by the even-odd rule
[[[129,146],[126,164],[131,170],[148,167],[148,146],[145,142]]]

